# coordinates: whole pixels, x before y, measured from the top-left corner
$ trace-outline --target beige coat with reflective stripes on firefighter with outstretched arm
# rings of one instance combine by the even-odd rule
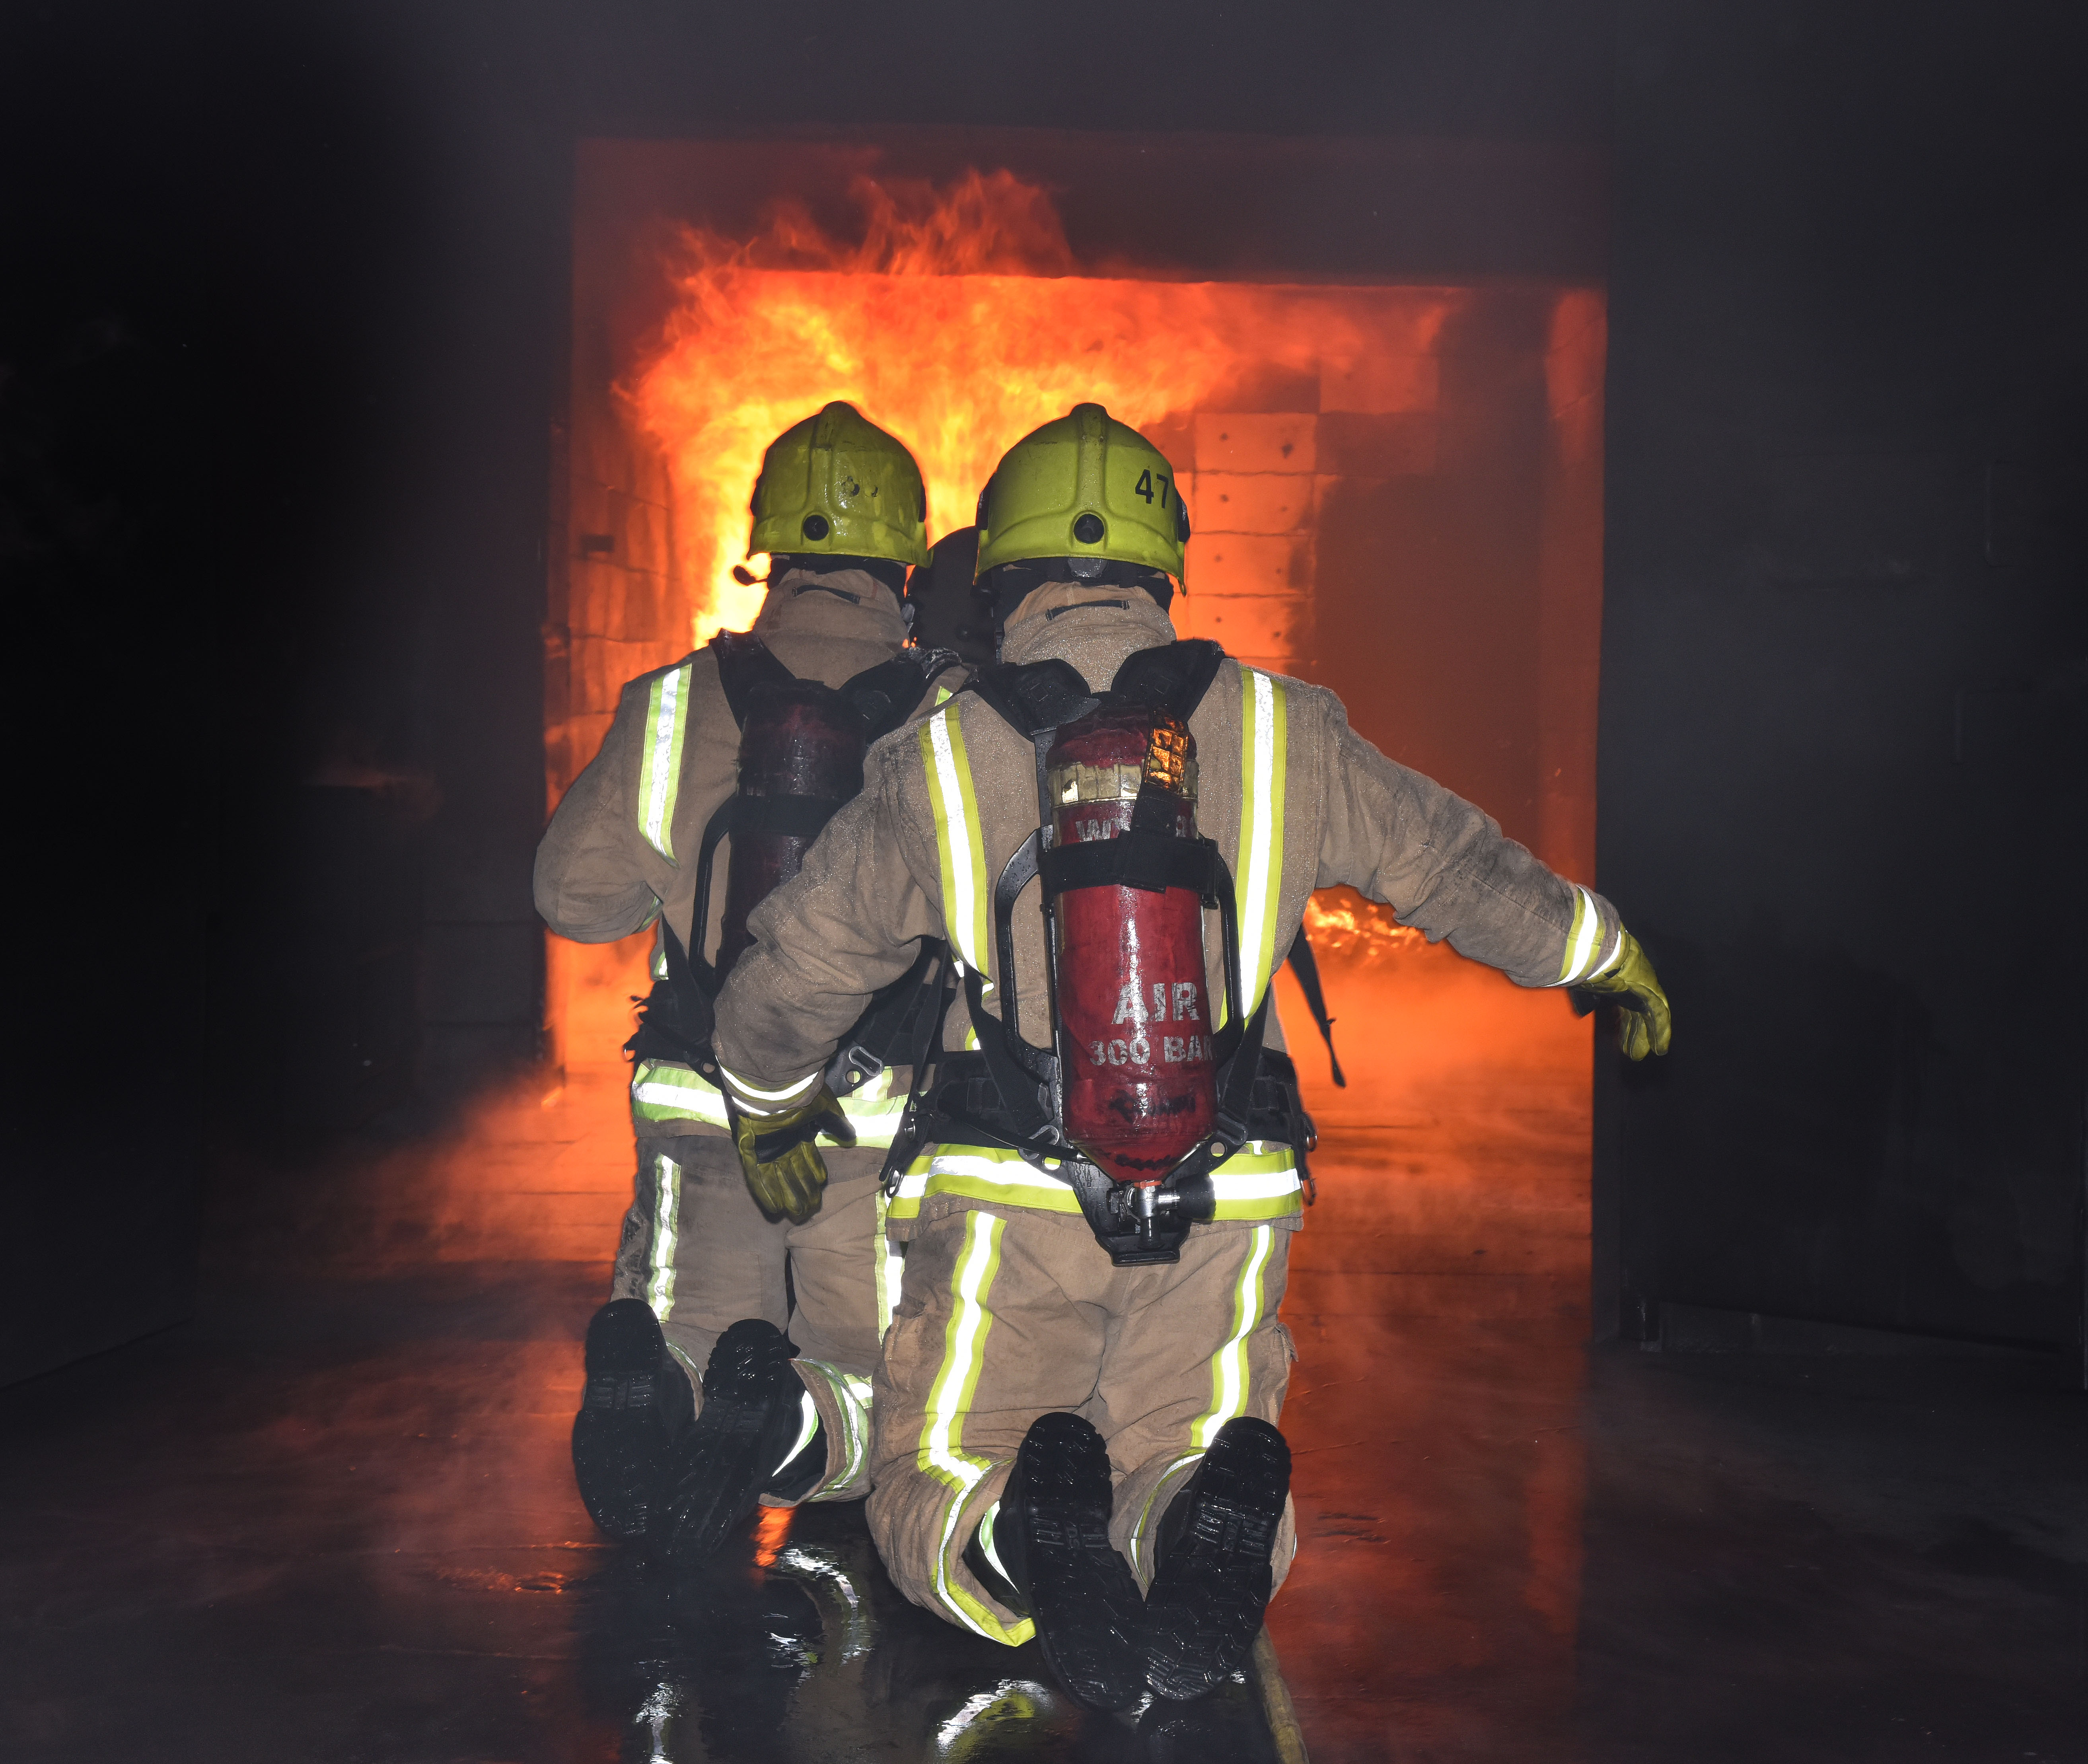
[[[1023,603],[1004,658],[1061,658],[1107,687],[1125,655],[1171,641],[1167,616],[1136,589],[1065,582]],[[1601,896],[1553,875],[1482,810],[1386,760],[1349,729],[1330,691],[1226,662],[1190,733],[1196,825],[1234,873],[1244,1008],[1288,954],[1307,896],[1334,883],[1518,985],[1581,979],[1616,950],[1620,923]],[[885,737],[871,749],[862,795],[827,825],[798,879],[748,921],[756,948],[739,958],[718,1012],[727,1073],[756,1094],[810,1094],[862,1000],[906,969],[919,937],[948,937],[990,975],[988,1008],[998,1012],[1006,977],[992,950],[992,887],[1034,829],[1034,749],[975,695]],[[1015,992],[1025,1035],[1046,1044],[1034,889],[1013,921]],[[1215,912],[1205,948],[1217,998]],[[958,1004],[946,1046],[963,1046],[965,1027]],[[1274,1015],[1270,1033],[1282,1046]]]

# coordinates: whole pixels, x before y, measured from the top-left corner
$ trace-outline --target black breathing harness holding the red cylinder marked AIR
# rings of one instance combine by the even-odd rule
[[[998,1146],[1071,1188],[1096,1240],[1130,1267],[1180,1259],[1190,1225],[1213,1215],[1213,1171],[1251,1140],[1309,1150],[1297,1071],[1263,1046],[1270,987],[1242,1010],[1232,873],[1194,831],[1188,722],[1221,662],[1219,645],[1190,639],[1130,655],[1102,693],[1059,660],[971,681],[1031,743],[1038,829],[992,893],[1000,1017],[967,962],[977,1052],[938,1054],[942,1038],[923,1035],[887,1188],[925,1144]],[[1023,1040],[1013,990],[1015,902],[1031,881],[1050,1050]],[[1207,998],[1207,908],[1224,929],[1221,1023]],[[952,990],[946,977],[944,1006]]]

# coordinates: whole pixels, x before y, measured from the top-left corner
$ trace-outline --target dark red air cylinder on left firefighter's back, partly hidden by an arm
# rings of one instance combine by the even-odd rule
[[[818,827],[814,804],[833,814],[862,789],[862,718],[831,687],[791,681],[762,687],[739,731],[741,797],[808,797],[808,816],[791,831],[777,827],[733,829],[725,871],[725,921],[718,937],[718,977],[750,950],[748,914],[804,864]],[[752,814],[758,816],[758,810]],[[810,827],[810,831],[806,831]]]

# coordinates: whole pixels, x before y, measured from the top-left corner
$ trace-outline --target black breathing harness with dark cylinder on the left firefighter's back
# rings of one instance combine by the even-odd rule
[[[660,921],[666,973],[639,1006],[639,1029],[624,1052],[639,1060],[677,1060],[706,1079],[718,1063],[710,1040],[714,1002],[733,962],[752,948],[748,914],[798,875],[825,825],[862,791],[862,760],[871,743],[898,729],[921,704],[938,674],[958,664],[948,649],[900,649],[839,687],[796,676],[752,633],[720,630],[710,639],[725,704],[739,724],[739,787],[704,827],[695,868],[697,948],[683,946],[674,927]],[[702,950],[710,925],[710,889],[718,843],[731,835],[725,877],[725,914],[716,958]],[[935,1006],[931,975],[944,948],[923,939],[915,964],[879,990],[827,1069],[827,1083],[844,1100],[875,1079],[915,1029],[915,1019]]]

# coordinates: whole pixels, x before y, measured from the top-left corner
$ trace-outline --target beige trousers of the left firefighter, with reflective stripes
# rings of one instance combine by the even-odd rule
[[[641,1298],[704,1403],[710,1351],[741,1317],[798,1346],[798,1376],[827,1426],[827,1476],[804,1499],[869,1491],[871,1374],[889,1317],[883,1152],[821,1146],[827,1192],[802,1225],[775,1223],[748,1192],[733,1142],[714,1134],[641,1138],[637,1192],[616,1250],[612,1298]],[[810,1426],[806,1428],[810,1432]]]

